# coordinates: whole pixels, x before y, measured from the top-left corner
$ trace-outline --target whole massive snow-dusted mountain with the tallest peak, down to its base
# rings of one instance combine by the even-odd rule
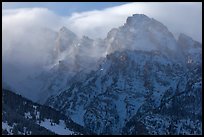
[[[141,14],[104,42],[97,68],[46,105],[97,134],[202,134],[200,43]]]

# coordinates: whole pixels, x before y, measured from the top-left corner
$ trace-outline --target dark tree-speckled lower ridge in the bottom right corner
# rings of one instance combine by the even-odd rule
[[[181,77],[175,93],[167,90],[158,107],[153,107],[152,101],[140,107],[124,126],[123,134],[201,135],[201,66],[191,68]]]

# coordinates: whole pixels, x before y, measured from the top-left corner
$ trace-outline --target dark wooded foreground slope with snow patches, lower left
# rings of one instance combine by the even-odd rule
[[[89,134],[69,117],[50,107],[34,103],[9,90],[2,90],[3,135]]]

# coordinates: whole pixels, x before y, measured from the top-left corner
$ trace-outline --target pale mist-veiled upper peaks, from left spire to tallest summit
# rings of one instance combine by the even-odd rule
[[[139,23],[138,23],[139,22]],[[80,71],[90,72],[100,64],[100,58],[115,51],[142,50],[160,51],[174,60],[184,58],[172,33],[160,22],[143,14],[128,17],[124,26],[112,29],[104,40],[92,40],[87,36],[78,38],[73,32],[62,27],[58,33],[51,71],[45,71],[48,82],[41,89],[41,102],[58,94]],[[60,50],[61,49],[61,50]],[[91,54],[90,54],[91,53]],[[47,73],[49,76],[46,76]],[[48,78],[49,77],[49,78]],[[45,97],[47,96],[47,97]]]

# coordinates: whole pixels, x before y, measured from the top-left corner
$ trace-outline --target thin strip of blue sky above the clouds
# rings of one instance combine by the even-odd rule
[[[107,7],[126,4],[127,2],[3,2],[3,9],[18,8],[47,8],[61,16],[69,16],[73,12],[84,12],[90,10],[102,10]]]

